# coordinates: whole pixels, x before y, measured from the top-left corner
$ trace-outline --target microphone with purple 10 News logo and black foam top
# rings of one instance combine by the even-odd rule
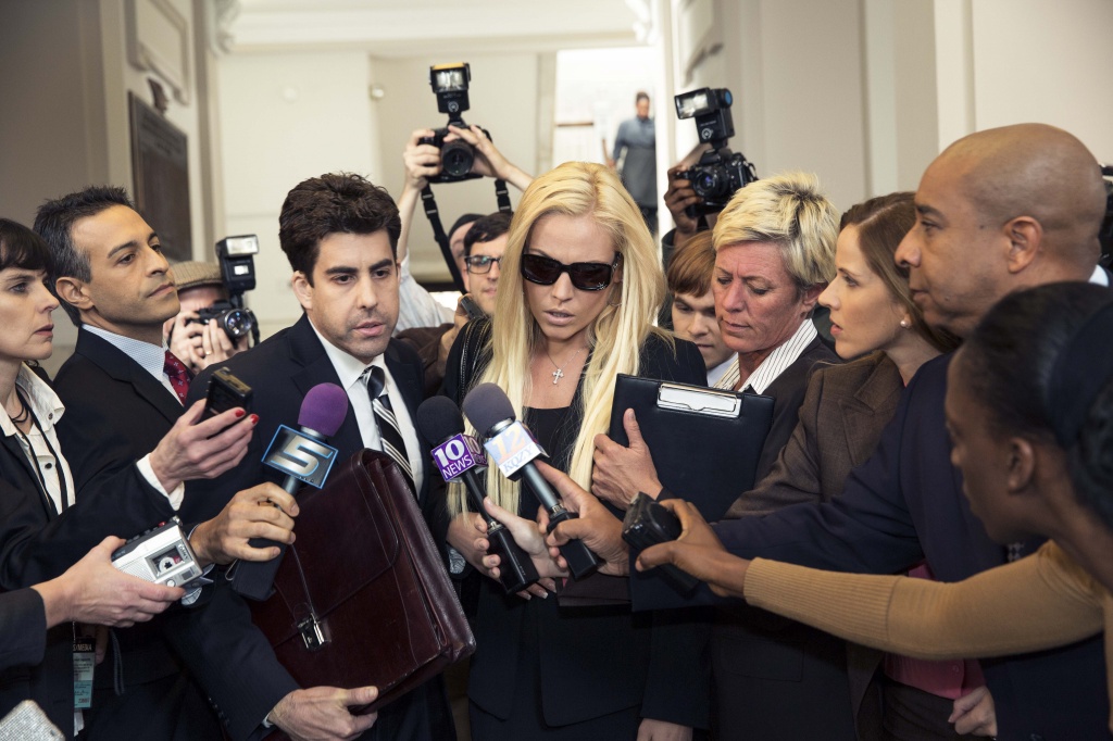
[[[486,468],[483,447],[464,434],[464,417],[451,399],[433,396],[417,407],[417,429],[433,449],[433,463],[446,482],[459,481],[467,490],[472,510],[483,515],[487,526],[489,553],[499,556],[499,581],[508,594],[521,592],[538,581],[538,570],[501,522],[483,506],[483,485],[479,474]]]

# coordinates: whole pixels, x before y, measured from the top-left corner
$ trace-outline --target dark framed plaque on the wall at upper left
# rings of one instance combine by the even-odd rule
[[[193,258],[186,135],[128,92],[136,208],[158,233],[171,263]]]

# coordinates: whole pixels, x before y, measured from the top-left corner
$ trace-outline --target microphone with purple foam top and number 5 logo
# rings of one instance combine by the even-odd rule
[[[325,485],[338,453],[326,441],[344,424],[347,405],[347,394],[343,388],[336,384],[317,384],[302,399],[302,409],[297,415],[299,429],[280,425],[275,432],[267,452],[263,454],[263,463],[286,474],[282,487],[288,494],[296,494],[303,484],[316,488]],[[248,543],[257,549],[273,545],[279,549],[278,556],[270,561],[240,561],[236,565],[233,589],[245,597],[262,602],[270,596],[286,546],[264,537],[253,537]]]

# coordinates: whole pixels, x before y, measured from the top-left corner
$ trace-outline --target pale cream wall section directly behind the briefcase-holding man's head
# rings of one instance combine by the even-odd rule
[[[370,73],[358,51],[234,55],[219,62],[225,229],[259,236],[257,286],[247,303],[264,335],[302,313],[278,246],[289,189],[341,170],[381,181]]]

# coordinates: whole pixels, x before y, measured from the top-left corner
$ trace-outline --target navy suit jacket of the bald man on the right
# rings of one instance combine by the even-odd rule
[[[864,573],[906,571],[926,556],[943,582],[1001,565],[1005,549],[986,535],[951,465],[943,401],[951,356],[926,363],[908,385],[876,453],[843,495],[716,531],[742,557]],[[1035,543],[1032,544],[1034,546]],[[983,662],[997,709],[997,738],[1107,739],[1102,639]]]

